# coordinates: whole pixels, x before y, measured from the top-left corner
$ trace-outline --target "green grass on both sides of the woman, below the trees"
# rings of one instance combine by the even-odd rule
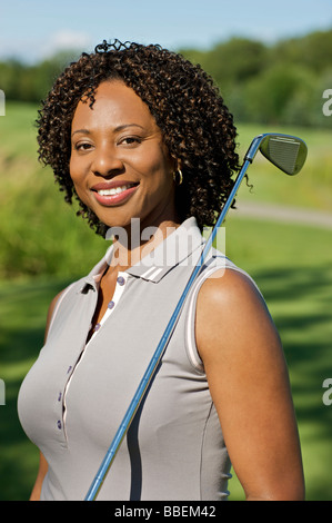
[[[0,119],[0,500],[26,500],[38,452],[17,416],[20,383],[42,345],[51,298],[100,258],[104,240],[74,216],[36,160],[36,108],[9,105]],[[239,126],[241,154],[268,130]],[[242,200],[332,210],[332,131],[282,129],[309,145],[308,164],[294,178],[256,158]],[[280,330],[289,364],[302,443],[308,500],[332,501],[332,405],[322,384],[332,378],[332,230],[254,220],[231,211],[225,224],[228,256],[260,286]],[[77,256],[80,253],[80,256]],[[237,477],[231,500],[243,499]]]

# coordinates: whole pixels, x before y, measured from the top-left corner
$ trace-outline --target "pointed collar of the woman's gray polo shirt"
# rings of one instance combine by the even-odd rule
[[[193,267],[198,262],[195,253],[199,247],[203,246],[204,241],[197,219],[194,217],[188,218],[180,227],[167,236],[155,249],[143,256],[139,263],[129,267],[125,273],[158,283],[178,265],[191,265]],[[111,259],[112,249],[113,247],[111,246],[91,273],[83,278],[84,285],[81,287],[81,292],[87,288],[87,285],[97,289],[98,283]]]

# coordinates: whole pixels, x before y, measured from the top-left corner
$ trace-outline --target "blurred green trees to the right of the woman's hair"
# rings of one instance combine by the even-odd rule
[[[183,50],[219,85],[241,121],[330,126],[320,110],[332,88],[332,30],[266,46],[233,38],[202,52]]]

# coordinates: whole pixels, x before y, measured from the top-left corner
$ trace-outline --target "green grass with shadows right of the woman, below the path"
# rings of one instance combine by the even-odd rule
[[[299,422],[308,500],[332,500],[332,230],[233,216],[227,254],[260,286],[280,332]],[[237,477],[231,499],[243,499]]]

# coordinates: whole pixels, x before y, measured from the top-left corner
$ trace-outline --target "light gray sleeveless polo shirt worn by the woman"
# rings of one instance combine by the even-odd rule
[[[19,417],[49,463],[41,500],[83,500],[201,253],[194,218],[120,273],[85,343],[112,247],[58,300],[19,393]],[[225,500],[230,460],[194,342],[195,299],[222,266],[211,250],[98,500]]]

